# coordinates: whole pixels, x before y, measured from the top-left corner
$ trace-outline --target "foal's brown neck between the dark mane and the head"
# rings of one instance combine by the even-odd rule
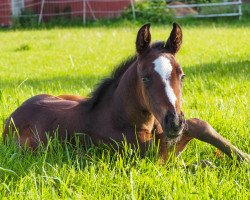
[[[148,120],[139,76],[137,74],[137,61],[124,73],[113,95],[113,117],[128,123],[140,124]]]

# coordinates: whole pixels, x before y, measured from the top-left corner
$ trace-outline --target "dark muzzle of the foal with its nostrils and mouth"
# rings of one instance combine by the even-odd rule
[[[176,138],[182,134],[185,126],[184,114],[168,111],[164,118],[164,132],[168,138]]]

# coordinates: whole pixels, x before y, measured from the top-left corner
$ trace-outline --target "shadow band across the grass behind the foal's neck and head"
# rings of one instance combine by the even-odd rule
[[[218,81],[220,78],[234,78],[240,80],[241,78],[250,78],[250,61],[244,60],[241,62],[229,62],[229,63],[207,63],[202,65],[184,67],[184,72],[188,77],[191,76],[213,76],[218,77]],[[28,79],[28,80],[0,80],[0,90],[5,89],[12,89],[12,88],[19,88],[19,87],[32,87],[39,89],[46,89],[49,88],[50,90],[58,89],[63,91],[70,91],[73,88],[92,88],[94,89],[95,85],[97,85],[102,78],[93,75],[77,75],[71,76],[63,75],[63,76],[56,76],[56,77],[48,77],[48,78],[41,78],[41,79]]]

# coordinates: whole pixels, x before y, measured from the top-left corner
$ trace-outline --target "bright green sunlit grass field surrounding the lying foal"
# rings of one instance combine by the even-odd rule
[[[87,95],[133,54],[137,26],[0,32],[0,132],[3,121],[39,94]],[[250,153],[250,27],[185,26],[177,59],[186,73],[183,110],[208,121]],[[152,27],[153,40],[170,27]],[[37,152],[0,142],[0,199],[249,199],[250,168],[192,141],[171,163],[156,150],[141,159],[129,148],[82,149],[57,141]],[[216,168],[185,165],[210,160]]]

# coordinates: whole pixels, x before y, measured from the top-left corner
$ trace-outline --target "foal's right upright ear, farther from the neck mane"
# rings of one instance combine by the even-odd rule
[[[182,43],[181,27],[177,23],[173,23],[173,29],[167,40],[165,49],[172,54],[176,54],[181,48],[181,43]]]

